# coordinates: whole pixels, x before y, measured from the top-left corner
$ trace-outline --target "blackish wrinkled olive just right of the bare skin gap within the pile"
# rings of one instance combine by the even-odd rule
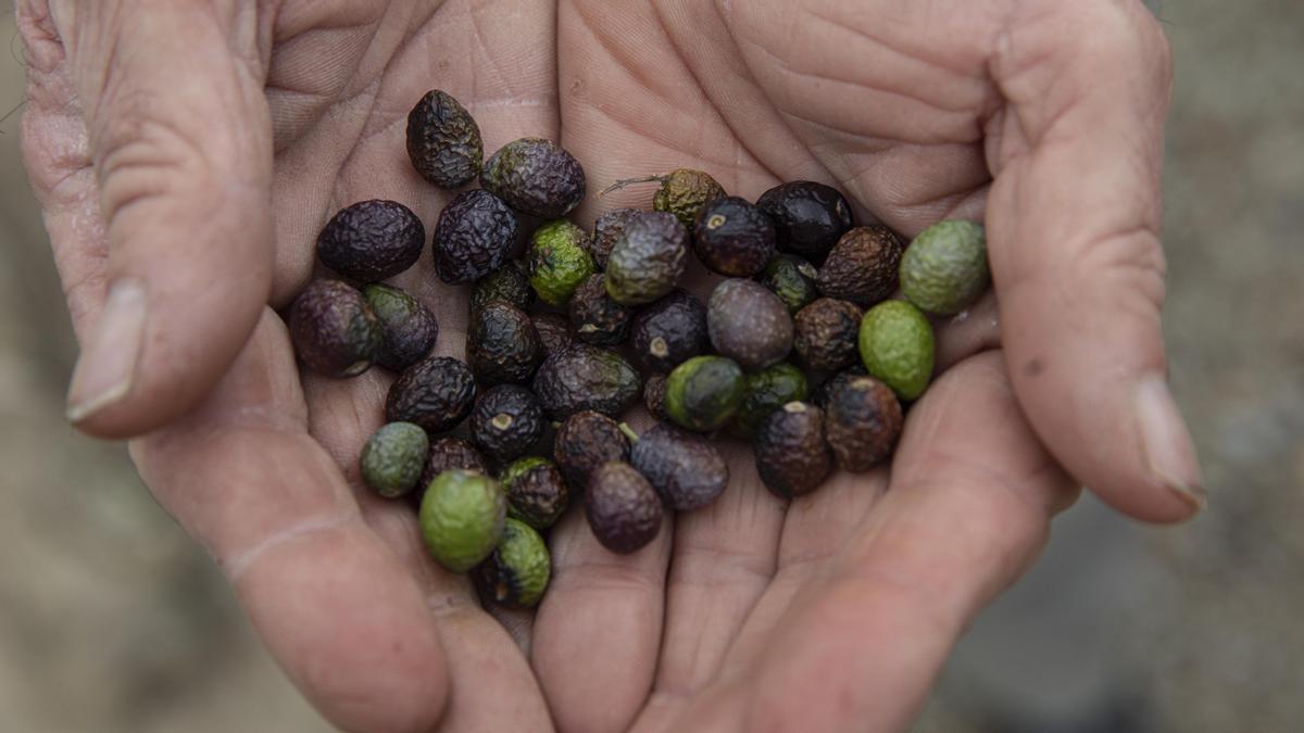
[[[542,361],[539,333],[522,309],[494,300],[467,330],[467,364],[484,386],[529,381]]]

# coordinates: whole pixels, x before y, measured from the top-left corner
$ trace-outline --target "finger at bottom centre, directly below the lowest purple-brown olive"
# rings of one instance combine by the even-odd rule
[[[672,522],[631,554],[601,545],[576,503],[552,531],[553,579],[532,663],[561,730],[627,730],[656,672]]]

